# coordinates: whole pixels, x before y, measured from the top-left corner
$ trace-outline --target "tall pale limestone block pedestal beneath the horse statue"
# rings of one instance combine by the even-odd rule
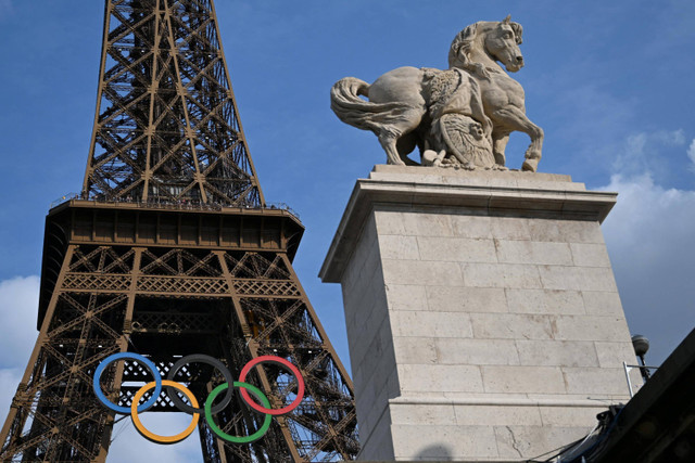
[[[629,399],[615,202],[547,173],[357,181],[320,278],[342,285],[361,460],[531,459]]]

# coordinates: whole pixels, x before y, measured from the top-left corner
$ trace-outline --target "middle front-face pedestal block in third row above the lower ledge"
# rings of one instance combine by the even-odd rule
[[[482,339],[549,339],[554,318],[525,313],[471,313],[473,337]]]

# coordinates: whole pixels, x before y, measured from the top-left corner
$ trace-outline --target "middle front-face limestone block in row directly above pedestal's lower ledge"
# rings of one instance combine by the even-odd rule
[[[564,394],[557,366],[481,366],[485,393]]]

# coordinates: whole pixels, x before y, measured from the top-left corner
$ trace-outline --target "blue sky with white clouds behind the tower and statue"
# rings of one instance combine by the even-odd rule
[[[445,67],[456,33],[508,13],[525,28],[515,78],[545,130],[540,170],[620,193],[604,233],[631,332],[652,340],[649,363],[695,325],[692,0],[218,0],[217,13],[265,197],[307,229],[295,270],[345,363],[340,287],[316,274],[355,179],[386,157],[372,133],[334,117],[329,89],[403,65]],[[102,16],[97,0],[0,0],[0,420],[36,336],[45,215],[81,185]],[[511,167],[527,144],[513,136]],[[194,455],[191,446],[166,451]]]

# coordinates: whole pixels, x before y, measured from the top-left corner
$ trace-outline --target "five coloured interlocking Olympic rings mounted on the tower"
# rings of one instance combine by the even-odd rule
[[[153,382],[150,382],[144,386],[142,386],[140,389],[138,389],[138,391],[135,394],[132,398],[130,407],[119,407],[111,402],[101,390],[101,386],[99,384],[101,380],[101,375],[106,369],[106,366],[109,366],[109,364],[113,363],[114,361],[121,360],[121,359],[136,360],[137,362],[147,366],[147,369],[150,370],[152,372],[152,375],[154,376]],[[207,396],[204,407],[202,408],[199,408],[199,402],[195,399],[195,396],[193,396],[193,394],[186,386],[174,381],[179,370],[181,370],[185,365],[189,363],[206,363],[211,366],[214,366],[216,370],[218,370],[223,374],[226,381],[226,383],[223,383],[213,389],[213,391]],[[296,393],[296,398],[292,401],[292,403],[281,409],[271,409],[270,401],[265,396],[265,394],[263,394],[261,389],[253,386],[252,384],[245,383],[247,376],[251,372],[251,369],[261,363],[274,363],[274,364],[280,365],[282,369],[289,371],[296,378],[298,393]],[[229,385],[231,385],[231,387],[229,387]],[[202,413],[205,414],[205,421],[207,422],[207,426],[220,439],[224,439],[233,443],[254,442],[261,439],[268,432],[268,429],[270,428],[270,422],[273,421],[273,416],[283,415],[291,412],[300,404],[300,402],[304,398],[304,378],[302,377],[300,370],[296,366],[294,366],[292,363],[290,363],[288,360],[282,359],[280,357],[275,357],[275,356],[262,356],[251,360],[241,370],[239,381],[233,381],[231,376],[231,372],[218,359],[215,359],[213,357],[205,356],[202,353],[186,356],[177,360],[172,366],[172,369],[168,371],[167,378],[162,380],[162,375],[156,369],[156,365],[151,360],[137,353],[121,352],[121,353],[114,353],[112,356],[106,357],[97,366],[97,370],[94,371],[92,386],[99,401],[101,401],[109,409],[115,412],[118,412],[121,414],[129,413],[138,433],[140,433],[140,435],[142,435],[142,437],[144,437],[146,439],[156,443],[175,443],[184,440],[195,429],[195,427],[198,426],[198,422],[200,421],[200,415]],[[229,404],[229,402],[233,397],[233,389],[237,387],[241,389],[241,397],[249,407],[251,407],[254,411],[258,413],[265,414],[265,419],[261,427],[255,433],[247,437],[231,436],[226,434],[222,428],[217,426],[217,424],[213,420],[213,414],[219,413]],[[141,406],[138,406],[138,403],[140,402],[144,394],[152,388],[154,388],[154,391],[152,393],[152,397],[150,397],[150,399],[147,402],[142,403]],[[193,415],[189,426],[184,432],[175,436],[160,436],[148,430],[139,417],[139,413],[142,413],[146,410],[150,409],[152,406],[154,406],[154,403],[157,401],[157,398],[160,397],[162,388],[166,389],[166,394],[168,395],[169,399],[172,400],[172,402],[176,408],[178,408],[181,411],[185,411],[188,414]],[[179,395],[173,391],[172,389],[178,389],[182,395],[185,395],[188,398],[188,400],[190,401],[190,404],[186,403],[181,399],[181,397],[179,397]],[[223,400],[213,407],[213,402],[215,401],[217,396],[219,396],[225,389],[227,389],[227,394],[225,395]],[[255,399],[262,403],[262,406],[258,404],[256,400],[251,399],[250,395],[254,396]]]

